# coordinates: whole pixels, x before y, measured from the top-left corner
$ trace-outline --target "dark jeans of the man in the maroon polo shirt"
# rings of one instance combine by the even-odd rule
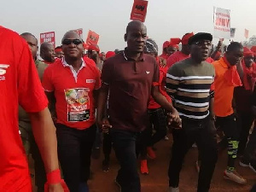
[[[136,141],[140,133],[110,129],[113,148],[120,169],[117,182],[122,192],[140,192],[141,183],[137,172]]]

